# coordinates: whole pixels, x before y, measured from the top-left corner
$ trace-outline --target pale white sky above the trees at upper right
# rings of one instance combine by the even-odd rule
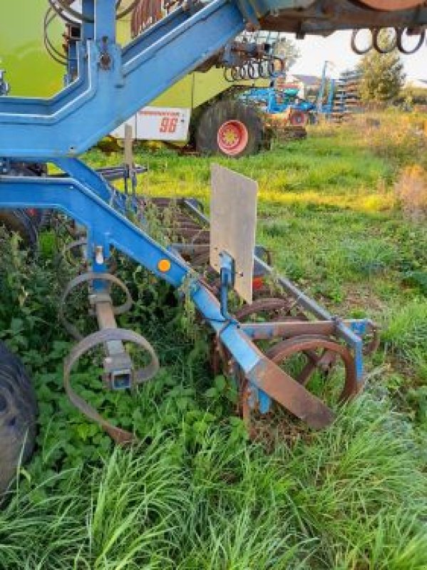
[[[304,40],[294,40],[302,57],[291,68],[291,73],[305,73],[320,76],[325,60],[334,63],[336,73],[353,68],[360,56],[350,47],[351,32],[339,31],[328,38],[306,36]],[[291,38],[291,36],[289,36]],[[361,45],[361,44],[357,44]],[[412,56],[401,56],[405,64],[407,79],[427,79],[427,47],[423,46]],[[331,75],[334,75],[332,72]]]

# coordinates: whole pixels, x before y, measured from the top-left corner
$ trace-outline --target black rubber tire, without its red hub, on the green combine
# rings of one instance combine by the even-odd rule
[[[247,130],[247,143],[240,152],[230,155],[218,144],[218,131],[227,121],[239,121]],[[220,100],[202,113],[196,128],[196,150],[202,155],[224,155],[234,158],[259,152],[263,137],[262,120],[256,110],[235,100]]]

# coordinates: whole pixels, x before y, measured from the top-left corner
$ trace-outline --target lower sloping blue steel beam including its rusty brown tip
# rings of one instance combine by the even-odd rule
[[[222,316],[215,296],[192,274],[185,261],[154,242],[77,180],[0,177],[0,207],[35,207],[64,212],[88,230],[89,260],[93,259],[94,247],[101,246],[104,257],[108,257],[110,247],[114,247],[175,287],[183,284],[186,277],[190,278],[192,301],[232,353],[252,385],[254,398],[260,400],[261,408],[266,405],[264,400],[268,403],[268,395],[311,427],[325,427],[333,420],[329,408],[269,361],[242,331],[239,323]],[[158,264],[162,259],[169,261],[168,271],[160,271]]]

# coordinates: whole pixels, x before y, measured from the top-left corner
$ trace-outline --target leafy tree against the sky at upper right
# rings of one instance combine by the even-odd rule
[[[392,42],[390,33],[383,31],[379,38],[380,46],[389,48]],[[406,77],[403,73],[403,61],[396,49],[392,49],[390,53],[371,50],[362,58],[359,71],[359,93],[361,100],[366,103],[385,103],[396,98]]]

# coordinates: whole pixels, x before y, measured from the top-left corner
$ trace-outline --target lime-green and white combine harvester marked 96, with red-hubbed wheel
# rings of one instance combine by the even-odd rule
[[[26,14],[25,19],[22,14]],[[46,26],[45,16],[43,0],[16,0],[6,8],[8,26],[1,28],[0,69],[7,69],[11,95],[49,97],[63,85],[61,46],[65,28],[60,19],[52,19]],[[133,35],[132,27],[131,14],[117,22],[118,39],[123,44]],[[19,33],[11,33],[17,29]],[[262,77],[232,79],[225,68],[215,66],[195,71],[165,90],[127,124],[132,126],[135,140],[160,140],[177,147],[190,141],[201,154],[254,154],[267,144],[267,127],[256,110],[232,95],[245,88],[267,87],[270,81]],[[170,117],[177,119],[172,128],[165,127]],[[124,124],[112,135],[123,139]]]

